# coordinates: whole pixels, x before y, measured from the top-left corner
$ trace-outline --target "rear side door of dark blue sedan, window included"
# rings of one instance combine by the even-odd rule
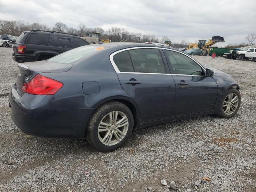
[[[128,48],[110,60],[124,91],[136,102],[142,122],[170,118],[175,113],[175,82],[160,48]]]

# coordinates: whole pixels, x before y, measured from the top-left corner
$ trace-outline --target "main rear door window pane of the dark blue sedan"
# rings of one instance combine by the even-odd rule
[[[134,72],[140,73],[166,73],[164,62],[159,49],[133,49],[129,50]]]

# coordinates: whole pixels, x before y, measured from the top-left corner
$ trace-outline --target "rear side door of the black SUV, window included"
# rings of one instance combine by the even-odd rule
[[[54,34],[51,42],[51,52],[60,54],[72,49],[70,35]]]

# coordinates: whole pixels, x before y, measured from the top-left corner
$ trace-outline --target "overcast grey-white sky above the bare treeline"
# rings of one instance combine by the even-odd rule
[[[219,35],[225,44],[240,43],[256,33],[256,0],[0,0],[0,20],[116,26],[175,42]]]

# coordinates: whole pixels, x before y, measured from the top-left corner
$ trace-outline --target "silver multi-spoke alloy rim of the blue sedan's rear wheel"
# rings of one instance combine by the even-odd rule
[[[102,120],[98,126],[98,138],[102,144],[112,146],[118,144],[127,134],[129,120],[121,111],[112,111]]]

